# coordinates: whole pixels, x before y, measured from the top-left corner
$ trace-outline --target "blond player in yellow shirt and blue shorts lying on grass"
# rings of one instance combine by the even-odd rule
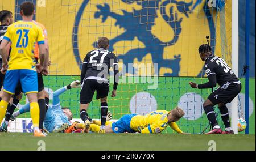
[[[175,108],[170,112],[166,110],[156,110],[145,116],[138,114],[126,114],[116,122],[106,122],[106,133],[160,133],[169,125],[173,130],[180,134],[183,133],[175,123],[184,116],[180,108]],[[101,122],[93,120],[88,131],[98,133]],[[85,133],[88,133],[85,131]]]

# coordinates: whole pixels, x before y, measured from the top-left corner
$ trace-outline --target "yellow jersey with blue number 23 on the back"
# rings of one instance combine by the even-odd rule
[[[8,70],[35,70],[35,44],[44,44],[43,31],[38,25],[32,21],[15,22],[8,27],[3,39],[11,41]]]

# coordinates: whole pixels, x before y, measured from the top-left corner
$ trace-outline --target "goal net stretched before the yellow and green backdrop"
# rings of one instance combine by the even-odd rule
[[[22,0],[0,2],[19,20]],[[38,0],[35,20],[44,24],[49,39],[49,76],[44,86],[50,94],[73,80],[80,80],[85,54],[96,48],[99,37],[108,37],[109,50],[116,54],[121,78],[117,97],[108,97],[109,110],[118,120],[124,114],[146,114],[154,110],[182,108],[181,130],[200,133],[208,126],[203,103],[211,89],[192,89],[188,82],[204,83],[207,78],[198,48],[209,44],[213,53],[231,66],[231,1],[176,0]],[[113,76],[113,72],[110,73]],[[113,77],[110,76],[110,91]],[[111,93],[111,92],[110,92]],[[60,96],[79,116],[80,89]],[[26,100],[20,102],[24,105]],[[221,124],[221,116],[216,107]],[[242,110],[241,110],[242,112]],[[94,95],[88,109],[91,118],[100,118],[100,101]],[[13,130],[28,131],[24,118],[11,122]],[[20,125],[23,125],[20,127]],[[24,125],[26,125],[24,127]],[[221,124],[223,127],[223,125]],[[12,130],[12,129],[11,129]],[[173,133],[168,128],[164,133]]]

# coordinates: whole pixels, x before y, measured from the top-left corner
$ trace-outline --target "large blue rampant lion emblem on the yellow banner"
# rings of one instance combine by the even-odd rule
[[[113,45],[118,41],[131,41],[135,37],[138,37],[138,40],[144,44],[144,48],[134,48],[129,50],[123,55],[119,55],[118,59],[122,59],[123,64],[128,67],[129,63],[133,63],[134,58],[137,58],[138,61],[142,61],[142,58],[146,56],[147,53],[151,54],[152,61],[158,63],[158,69],[161,67],[166,67],[172,69],[172,73],[165,73],[164,76],[179,76],[180,72],[180,60],[181,55],[175,55],[173,59],[164,59],[164,47],[175,45],[181,33],[181,23],[182,18],[179,18],[179,14],[184,14],[189,18],[189,14],[192,13],[193,1],[186,3],[184,1],[175,1],[168,0],[161,2],[160,0],[156,1],[139,1],[139,0],[122,0],[125,3],[134,3],[137,2],[138,5],[141,5],[141,10],[133,9],[133,12],[127,12],[122,10],[124,15],[119,15],[110,11],[110,6],[105,3],[104,5],[97,5],[98,12],[94,14],[94,18],[100,18],[102,16],[102,23],[110,17],[116,20],[115,25],[119,25],[120,28],[124,28],[125,32],[113,39],[110,39],[110,51],[114,51]],[[174,4],[170,7],[170,13],[166,13],[166,6],[168,4]],[[197,3],[198,4],[198,3]],[[174,7],[177,7],[176,12]],[[155,35],[151,33],[152,26],[155,25],[156,11],[159,10],[163,19],[170,25],[174,30],[174,36],[172,40],[168,42],[162,42]],[[179,12],[179,13],[177,13]],[[170,16],[168,16],[170,15]],[[96,42],[94,42],[96,46]],[[136,71],[136,70],[135,70]],[[155,71],[155,74],[159,71]],[[136,73],[136,72],[135,72]]]

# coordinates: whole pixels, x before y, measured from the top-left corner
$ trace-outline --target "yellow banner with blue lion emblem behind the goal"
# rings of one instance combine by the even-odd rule
[[[15,13],[15,4],[1,0],[0,10]],[[47,28],[51,75],[80,75],[86,53],[105,36],[120,66],[157,63],[152,74],[198,76],[204,63],[198,48],[207,44],[205,36],[215,54],[230,60],[231,2],[217,10],[199,0],[38,0],[36,21]]]

